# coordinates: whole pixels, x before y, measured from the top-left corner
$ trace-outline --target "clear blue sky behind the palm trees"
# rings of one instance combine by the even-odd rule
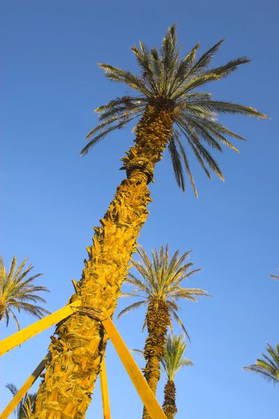
[[[213,298],[182,303],[181,317],[195,367],[177,375],[177,419],[278,419],[278,388],[241,370],[279,341],[278,251],[278,6],[276,1],[3,1],[2,4],[2,226],[1,253],[10,263],[29,256],[48,308],[59,309],[80,279],[85,247],[123,178],[130,128],[78,156],[96,124],[93,109],[127,88],[110,83],[97,62],[136,71],[129,47],[140,39],[160,45],[178,22],[183,53],[226,38],[215,64],[248,55],[252,62],[209,85],[216,98],[251,105],[271,121],[223,117],[245,136],[237,155],[218,156],[225,184],[209,181],[191,162],[199,198],[174,182],[167,154],[151,186],[151,214],[140,234],[146,251],[169,243],[193,249],[204,271],[186,286]],[[119,302],[119,309],[127,301]],[[129,348],[142,348],[144,309],[117,322]],[[22,326],[32,319],[21,317]],[[176,332],[179,331],[175,326]],[[0,325],[2,337],[15,332]],[[50,330],[1,358],[0,409],[10,400],[5,383],[24,383],[49,344]],[[140,363],[140,361],[139,361]],[[143,366],[143,365],[141,365]],[[112,418],[140,418],[142,405],[116,353],[107,348]],[[162,381],[158,399],[163,398]],[[87,418],[101,418],[99,383]]]

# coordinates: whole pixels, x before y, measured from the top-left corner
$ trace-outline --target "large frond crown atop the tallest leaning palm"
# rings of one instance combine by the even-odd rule
[[[224,180],[223,173],[208,147],[222,152],[222,145],[225,145],[239,152],[227,138],[239,140],[245,140],[245,138],[217,122],[218,114],[268,117],[250,106],[230,101],[215,101],[209,92],[201,90],[207,83],[226,78],[241,64],[250,61],[248,57],[239,57],[223,66],[210,66],[214,54],[223,41],[213,45],[199,58],[196,57],[199,48],[199,43],[197,43],[185,57],[179,58],[181,46],[177,47],[176,24],[174,24],[167,29],[160,50],[156,47],[149,50],[142,41],[140,41],[140,47],[134,45],[131,48],[136,56],[140,75],[109,64],[99,64],[109,80],[128,84],[137,93],[136,96],[117,97],[107,105],[96,109],[100,124],[86,136],[89,142],[80,154],[86,154],[108,133],[124,128],[128,122],[141,117],[147,106],[153,105],[160,108],[165,105],[172,115],[173,128],[168,140],[168,149],[179,187],[183,191],[186,190],[184,166],[197,196],[188,151],[193,152],[202,170],[210,179],[209,170],[212,170]]]

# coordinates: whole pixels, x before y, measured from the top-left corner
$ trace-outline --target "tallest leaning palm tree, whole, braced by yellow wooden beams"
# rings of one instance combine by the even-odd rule
[[[87,135],[89,142],[81,154],[86,154],[108,133],[140,120],[135,128],[135,145],[122,159],[127,178],[117,188],[107,213],[100,220],[101,225],[94,228],[93,245],[87,247],[89,259],[85,260],[82,279],[70,302],[79,298],[83,307],[93,307],[97,312],[105,307],[110,315],[113,314],[121,282],[137,248],[137,237],[149,213],[146,209],[151,201],[148,185],[153,181],[155,164],[162,159],[166,148],[171,154],[179,186],[185,190],[184,165],[197,194],[188,150],[193,151],[209,178],[209,170],[212,170],[223,179],[207,146],[219,152],[222,145],[237,151],[227,137],[243,140],[216,121],[218,113],[266,118],[249,106],[213,101],[211,94],[200,90],[208,82],[226,78],[239,65],[249,61],[241,57],[223,66],[209,68],[222,42],[213,45],[199,59],[196,59],[199,44],[186,57],[179,58],[181,47],[176,46],[176,27],[173,25],[167,29],[160,50],[149,51],[142,42],[139,48],[132,48],[140,75],[100,64],[109,80],[128,84],[137,93],[136,96],[115,98],[97,109],[100,124]],[[52,357],[45,380],[38,391],[36,417],[83,418],[100,371],[107,335],[101,330],[98,319],[81,314],[59,323],[56,335],[56,340],[50,344]],[[68,360],[66,365],[65,359]]]

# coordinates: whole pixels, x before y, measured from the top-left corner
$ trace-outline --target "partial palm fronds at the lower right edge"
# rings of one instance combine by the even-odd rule
[[[249,367],[243,367],[246,371],[252,371],[260,374],[266,380],[273,381],[274,384],[279,383],[279,344],[276,344],[276,348],[273,348],[266,342],[266,351],[268,355],[262,353],[263,358],[258,358],[256,363],[249,365]]]

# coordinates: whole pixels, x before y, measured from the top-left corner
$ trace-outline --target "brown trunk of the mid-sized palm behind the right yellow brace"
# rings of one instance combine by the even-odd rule
[[[153,394],[156,395],[157,384],[160,380],[160,361],[163,359],[165,353],[167,327],[171,323],[169,308],[164,300],[149,302],[146,323],[149,336],[146,338],[144,345],[146,367],[143,371],[149,387]],[[150,419],[145,406],[142,418]]]

